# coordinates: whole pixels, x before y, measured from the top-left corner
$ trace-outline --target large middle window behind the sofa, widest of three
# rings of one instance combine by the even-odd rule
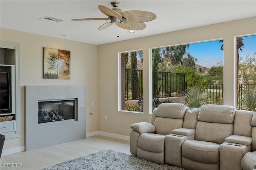
[[[156,48],[151,56],[152,110],[163,102],[222,104],[223,40]]]

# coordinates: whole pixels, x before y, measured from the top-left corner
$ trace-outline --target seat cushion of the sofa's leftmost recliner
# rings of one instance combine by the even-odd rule
[[[138,138],[138,147],[149,152],[164,152],[165,135],[142,133]]]

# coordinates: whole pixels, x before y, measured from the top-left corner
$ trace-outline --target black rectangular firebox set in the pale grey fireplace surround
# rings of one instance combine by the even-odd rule
[[[75,99],[38,101],[38,123],[75,119]]]

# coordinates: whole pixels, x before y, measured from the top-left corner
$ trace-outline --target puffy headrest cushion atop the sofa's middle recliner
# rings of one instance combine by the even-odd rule
[[[198,120],[231,124],[234,122],[235,111],[233,106],[207,104],[200,107]]]

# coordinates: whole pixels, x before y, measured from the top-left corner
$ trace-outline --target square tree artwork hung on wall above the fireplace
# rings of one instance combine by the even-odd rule
[[[44,47],[44,78],[70,79],[70,51]]]

